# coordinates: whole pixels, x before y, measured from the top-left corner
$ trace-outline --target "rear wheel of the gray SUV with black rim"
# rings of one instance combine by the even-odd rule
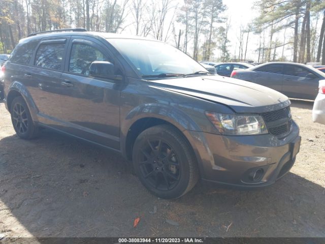
[[[31,115],[25,100],[22,97],[16,97],[12,101],[11,121],[17,135],[22,139],[32,139],[38,134],[38,127],[31,119]]]

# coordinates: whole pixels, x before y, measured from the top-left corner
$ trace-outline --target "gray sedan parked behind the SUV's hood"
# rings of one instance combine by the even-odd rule
[[[289,98],[314,100],[325,74],[308,65],[270,62],[246,70],[234,70],[232,78],[264,85]]]

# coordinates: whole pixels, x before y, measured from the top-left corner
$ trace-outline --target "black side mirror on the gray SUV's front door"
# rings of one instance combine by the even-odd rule
[[[114,65],[107,61],[92,62],[89,67],[89,75],[105,79],[122,80],[121,75],[115,75]]]

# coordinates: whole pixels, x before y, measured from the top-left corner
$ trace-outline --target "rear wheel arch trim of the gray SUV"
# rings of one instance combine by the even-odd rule
[[[32,99],[30,93],[28,92],[27,87],[19,81],[12,82],[10,84],[10,86],[8,87],[6,108],[8,110],[10,110],[10,108],[8,106],[8,100],[11,99],[11,96],[13,96],[13,93],[15,93],[15,92],[18,92],[25,100],[32,120],[38,121],[38,118],[37,118],[38,109],[36,107],[36,104],[35,104],[34,100]]]

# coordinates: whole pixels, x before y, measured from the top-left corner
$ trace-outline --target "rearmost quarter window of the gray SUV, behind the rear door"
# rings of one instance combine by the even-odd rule
[[[29,64],[31,56],[38,44],[38,40],[28,41],[25,43],[19,43],[12,52],[10,62],[18,63],[22,65]]]

